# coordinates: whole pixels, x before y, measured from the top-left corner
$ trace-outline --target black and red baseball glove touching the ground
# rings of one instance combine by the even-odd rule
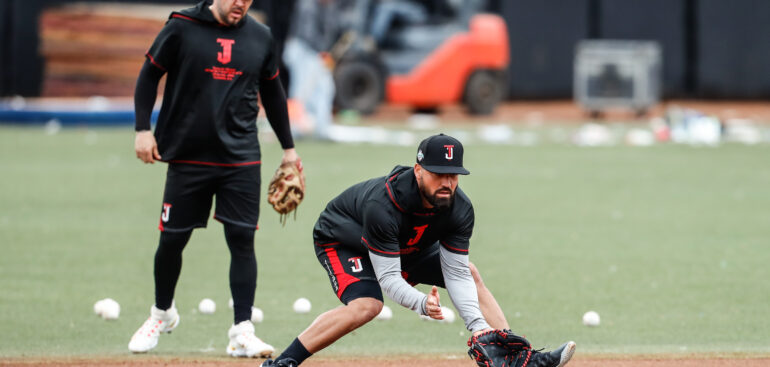
[[[522,354],[529,356],[532,346],[527,339],[508,329],[490,330],[468,339],[468,355],[479,367],[508,367],[522,365]],[[524,353],[522,353],[524,352]],[[527,358],[528,359],[528,358]],[[526,365],[527,361],[523,361]]]

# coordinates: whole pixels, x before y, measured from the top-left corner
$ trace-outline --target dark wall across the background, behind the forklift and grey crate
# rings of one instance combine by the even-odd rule
[[[41,94],[39,15],[46,6],[75,1],[0,1],[0,96]],[[281,4],[288,9],[289,3]],[[253,7],[275,17],[290,15],[268,0],[255,0]],[[586,38],[658,41],[663,50],[664,98],[770,97],[766,0],[489,0],[488,9],[499,12],[508,24],[512,99],[571,98],[575,45]],[[276,22],[287,28],[285,21]]]

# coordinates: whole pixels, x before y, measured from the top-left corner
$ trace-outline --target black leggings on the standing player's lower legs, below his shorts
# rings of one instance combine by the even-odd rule
[[[257,258],[254,256],[254,229],[225,224],[225,239],[230,249],[230,292],[233,296],[234,322],[251,319],[254,291],[257,287]],[[155,307],[167,310],[174,299],[182,251],[190,240],[187,232],[161,232],[155,252]]]

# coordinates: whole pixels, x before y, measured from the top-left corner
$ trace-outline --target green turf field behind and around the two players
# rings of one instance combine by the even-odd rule
[[[415,150],[306,141],[298,149],[308,191],[297,220],[281,227],[263,203],[257,232],[256,305],[265,313],[257,334],[279,350],[338,305],[311,244],[326,201],[410,164]],[[279,147],[263,151],[264,178]],[[471,260],[536,347],[573,339],[581,353],[770,352],[770,146],[473,143],[465,165],[472,174],[460,185],[476,211]],[[0,357],[128,354],[153,301],[164,174],[164,164],[134,158],[129,128],[0,127]],[[228,262],[212,220],[185,251],[181,325],[158,354],[224,355]],[[92,311],[106,297],[121,304],[116,321]],[[214,315],[197,313],[205,297],[217,302]],[[292,312],[297,297],[313,302],[311,313]],[[460,321],[421,321],[386,304],[392,320],[322,355],[465,352]],[[601,326],[582,325],[588,310]]]

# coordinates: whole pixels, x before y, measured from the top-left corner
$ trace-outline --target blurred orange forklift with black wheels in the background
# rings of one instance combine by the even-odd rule
[[[494,111],[505,97],[509,61],[502,17],[482,13],[482,0],[452,1],[449,15],[394,20],[373,40],[366,23],[377,3],[357,2],[364,24],[343,33],[332,49],[336,109],[369,114],[387,102],[435,111],[461,102],[471,114]]]

